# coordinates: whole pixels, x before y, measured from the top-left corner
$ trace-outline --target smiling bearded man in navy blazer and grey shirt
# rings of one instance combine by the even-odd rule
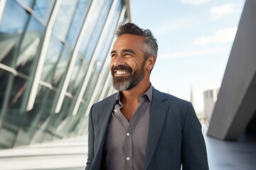
[[[110,70],[118,93],[91,108],[86,169],[208,169],[191,103],[150,83],[158,50],[154,35],[133,23],[121,24],[116,35]]]

